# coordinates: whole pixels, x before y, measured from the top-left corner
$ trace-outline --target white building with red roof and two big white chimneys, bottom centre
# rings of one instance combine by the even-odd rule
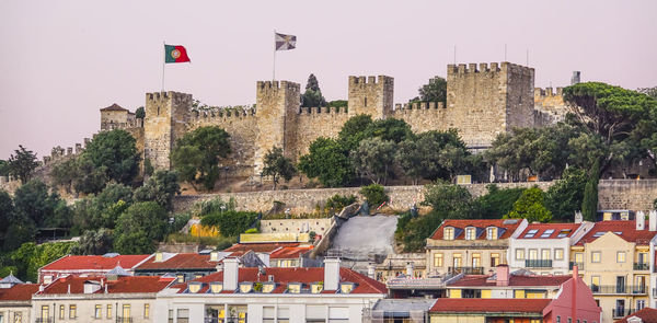
[[[221,272],[159,292],[154,313],[173,323],[355,323],[385,295],[383,284],[335,258],[314,268],[241,268],[227,258]]]

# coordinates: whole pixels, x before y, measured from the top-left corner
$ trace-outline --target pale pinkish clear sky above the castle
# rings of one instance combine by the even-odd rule
[[[163,43],[192,64],[165,66],[164,89],[209,105],[255,103],[273,78],[274,31],[297,36],[276,54],[276,79],[327,100],[348,76],[394,77],[407,102],[454,62],[506,60],[535,69],[535,86],[583,81],[657,86],[657,1],[0,1],[0,159],[19,145],[39,160],[100,129],[100,108],[135,111],[162,90]]]

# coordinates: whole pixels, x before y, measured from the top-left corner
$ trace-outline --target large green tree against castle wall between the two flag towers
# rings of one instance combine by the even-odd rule
[[[172,151],[173,166],[180,178],[195,184],[203,184],[206,189],[215,188],[219,177],[219,161],[231,152],[230,135],[226,130],[207,126],[185,134]]]

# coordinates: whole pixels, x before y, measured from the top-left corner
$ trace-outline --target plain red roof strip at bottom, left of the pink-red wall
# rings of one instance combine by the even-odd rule
[[[456,299],[439,298],[429,310],[435,313],[463,313],[463,312],[495,312],[495,313],[539,313],[551,299]]]

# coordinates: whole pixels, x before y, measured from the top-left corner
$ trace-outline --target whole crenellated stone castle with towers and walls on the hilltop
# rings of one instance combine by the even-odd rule
[[[336,137],[343,124],[359,114],[399,118],[413,131],[456,128],[471,149],[489,147],[514,127],[551,125],[566,113],[561,89],[534,89],[534,69],[510,62],[448,65],[447,104],[394,104],[394,79],[349,77],[348,105],[300,107],[300,85],[258,81],[252,107],[193,108],[192,94],[146,94],[146,117],[112,105],[101,109],[101,130],[122,128],[155,169],[170,169],[175,141],[201,126],[218,126],[231,136],[232,155],[223,161],[228,176],[260,174],[273,147],[297,160],[320,136]]]

